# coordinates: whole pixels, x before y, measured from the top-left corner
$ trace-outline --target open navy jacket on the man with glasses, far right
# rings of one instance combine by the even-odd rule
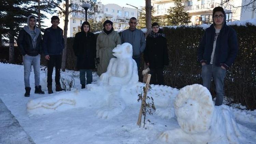
[[[215,28],[212,24],[204,32],[198,49],[198,61],[207,64],[211,61]],[[215,47],[215,66],[223,66],[226,69],[234,62],[238,53],[238,40],[236,31],[224,22],[223,28],[219,32]]]

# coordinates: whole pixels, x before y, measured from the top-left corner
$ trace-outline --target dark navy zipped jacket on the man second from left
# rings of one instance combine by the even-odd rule
[[[56,31],[57,34],[55,33]],[[60,27],[57,27],[57,29],[52,27],[45,29],[42,42],[44,56],[61,55],[64,46],[63,30]]]

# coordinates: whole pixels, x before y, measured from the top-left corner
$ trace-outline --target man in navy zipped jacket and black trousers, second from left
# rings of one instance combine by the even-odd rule
[[[64,48],[63,30],[58,27],[59,17],[51,18],[52,27],[45,29],[43,36],[43,51],[47,62],[47,88],[48,93],[53,93],[52,90],[52,74],[55,66],[55,84],[56,91],[62,91],[60,86],[60,68],[62,50]]]

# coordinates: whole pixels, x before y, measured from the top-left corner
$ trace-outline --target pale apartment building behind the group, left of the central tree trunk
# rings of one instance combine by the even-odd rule
[[[70,11],[81,10],[83,4],[81,0],[70,0],[72,7]],[[92,10],[88,10],[87,19],[95,19],[100,21],[102,19],[109,19],[113,22],[114,29],[125,29],[129,27],[129,19],[131,17],[137,18],[137,9],[121,7],[117,4],[99,4]],[[60,17],[60,28],[64,28],[65,17]],[[85,21],[85,11],[74,11],[69,15],[68,22],[68,37],[74,37],[75,33],[79,32],[83,22]],[[102,26],[103,29],[103,26]]]

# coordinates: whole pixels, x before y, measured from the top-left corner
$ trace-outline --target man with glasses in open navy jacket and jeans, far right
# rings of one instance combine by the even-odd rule
[[[210,90],[214,78],[216,101],[222,105],[224,77],[238,53],[237,34],[226,25],[226,13],[222,7],[213,9],[213,24],[204,32],[198,49],[198,60],[202,65],[203,86]]]

